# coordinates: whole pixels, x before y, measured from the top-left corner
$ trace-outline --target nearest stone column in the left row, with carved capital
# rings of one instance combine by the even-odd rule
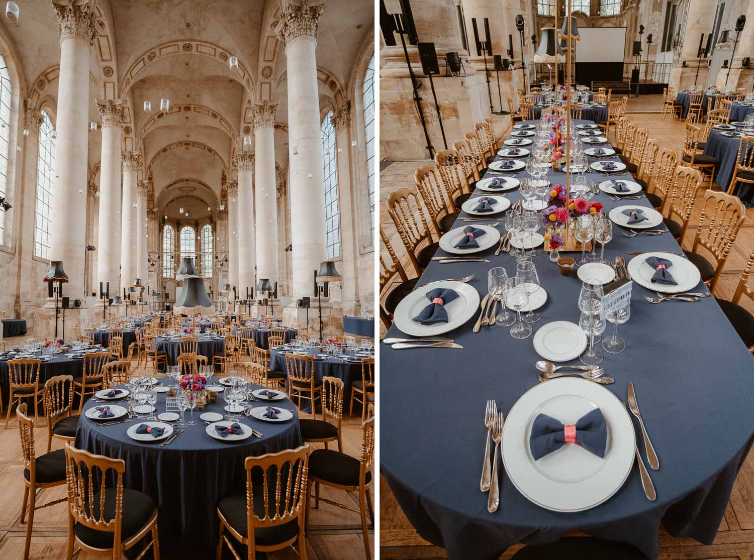
[[[89,2],[78,0],[71,4],[65,0],[53,0],[60,33],[60,85],[50,259],[63,261],[69,278],[64,295],[81,298],[84,295],[86,244],[83,216],[87,201],[89,51],[97,30]]]

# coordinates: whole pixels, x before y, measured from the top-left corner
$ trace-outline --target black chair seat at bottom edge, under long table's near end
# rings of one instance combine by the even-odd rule
[[[635,546],[617,540],[568,537],[554,543],[524,546],[510,560],[649,560]]]

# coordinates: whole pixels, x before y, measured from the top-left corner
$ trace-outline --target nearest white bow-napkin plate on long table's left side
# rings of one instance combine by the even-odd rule
[[[448,312],[447,323],[435,323],[434,325],[422,325],[414,320],[421,310],[431,302],[427,299],[427,292],[435,288],[454,289],[458,298],[449,301],[445,306]],[[395,308],[393,314],[395,326],[406,335],[412,336],[436,336],[443,332],[449,332],[466,323],[479,308],[479,292],[464,282],[437,282],[429,286],[420,286],[406,295]]]

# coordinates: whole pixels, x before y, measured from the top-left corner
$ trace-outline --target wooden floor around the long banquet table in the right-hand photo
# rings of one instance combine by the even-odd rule
[[[659,103],[657,101],[659,99]],[[660,141],[661,148],[681,150],[683,144],[683,121],[661,121],[661,96],[632,98],[627,106],[627,117],[639,127],[646,127],[650,138]],[[659,108],[659,109],[658,109]],[[647,111],[647,112],[639,112]],[[510,118],[498,118],[495,130],[507,135]],[[612,136],[611,136],[611,139]],[[384,211],[385,200],[392,191],[406,185],[413,185],[413,172],[424,162],[397,161],[383,167],[380,173],[380,224],[390,237],[396,252],[403,254],[403,245],[397,237],[390,216]],[[719,186],[716,185],[719,190]],[[693,223],[693,220],[692,220]],[[694,229],[686,234],[684,246],[691,248]],[[738,283],[746,259],[754,250],[754,210],[748,210],[746,222],[734,243],[731,257],[722,273],[716,295],[731,298]],[[754,312],[754,309],[749,309]],[[752,361],[754,372],[754,361]],[[389,437],[385,434],[382,437]],[[403,511],[400,510],[390,488],[381,479],[380,484],[380,557],[384,560],[408,560],[409,558],[446,558],[445,550],[433,546],[416,534]],[[569,536],[577,535],[573,533]],[[754,560],[754,456],[749,454],[731,493],[731,500],[725,512],[718,534],[713,544],[702,545],[695,540],[671,537],[664,531],[659,535],[661,554],[659,560]],[[521,545],[511,546],[501,558],[510,558]]]

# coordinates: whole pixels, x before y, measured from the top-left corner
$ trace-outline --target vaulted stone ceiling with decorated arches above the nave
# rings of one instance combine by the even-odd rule
[[[21,98],[33,109],[50,108],[54,118],[57,17],[51,0],[16,2],[19,23],[0,18],[0,33],[14,50],[3,54],[17,60],[23,74]],[[285,173],[286,58],[275,28],[284,2],[300,0],[90,2],[98,34],[90,56],[90,121],[100,121],[95,99],[124,99],[122,148],[141,154],[139,180],[153,186],[155,208],[175,211],[176,219],[181,203],[205,218],[219,210],[222,179],[235,179],[234,154],[243,136],[253,136],[251,107],[259,101],[279,103],[275,158]],[[372,0],[325,0],[324,5],[317,37],[323,109],[352,98],[348,84],[357,54],[373,36],[374,14]],[[238,68],[229,68],[229,57],[238,57]],[[167,112],[159,110],[163,97],[170,99]],[[143,111],[144,101],[152,112]],[[95,182],[100,142],[101,130],[90,132],[88,164]]]

